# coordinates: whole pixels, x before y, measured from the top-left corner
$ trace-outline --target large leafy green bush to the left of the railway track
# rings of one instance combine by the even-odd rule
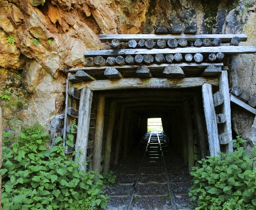
[[[28,128],[26,132],[35,135]],[[17,140],[12,134],[8,132],[4,136]],[[41,136],[40,133],[36,135]],[[62,144],[47,149],[42,139],[35,141],[35,137],[26,135],[26,146],[16,142],[11,148],[3,146],[2,209],[105,208],[109,197],[103,195],[102,180],[95,181],[93,171],[79,171],[79,166],[66,158]],[[61,137],[56,139],[56,142],[61,141]],[[84,208],[78,208],[79,205]]]

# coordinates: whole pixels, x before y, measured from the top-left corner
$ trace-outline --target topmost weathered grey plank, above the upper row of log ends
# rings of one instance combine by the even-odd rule
[[[195,39],[205,39],[208,38],[213,41],[214,38],[220,38],[222,42],[230,42],[234,36],[238,36],[241,42],[247,41],[247,35],[245,34],[179,34],[179,35],[156,35],[156,34],[100,34],[101,42],[107,42],[112,39],[118,39],[121,42],[128,42],[131,39],[134,39],[136,42],[139,42],[140,39],[152,39],[157,41],[158,39],[164,39],[168,41],[170,38],[186,38],[188,42],[194,42]]]

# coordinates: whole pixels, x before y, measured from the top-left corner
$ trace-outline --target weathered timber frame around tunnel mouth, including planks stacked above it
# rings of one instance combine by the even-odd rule
[[[129,142],[130,138],[127,137],[131,127],[131,112],[133,110],[147,109],[145,107],[148,107],[149,110],[151,110],[150,107],[157,106],[172,107],[173,111],[170,112],[170,115],[178,119],[178,123],[181,125],[178,127],[180,131],[179,136],[183,139],[181,143],[177,144],[182,146],[182,156],[185,164],[188,164],[191,170],[196,158],[194,158],[194,131],[192,128],[190,103],[193,103],[194,122],[198,133],[201,157],[203,158],[206,155],[218,156],[221,148],[224,148],[226,153],[232,152],[230,102],[236,103],[251,113],[256,114],[254,108],[233,95],[230,96],[229,93],[227,71],[229,55],[256,52],[256,48],[253,46],[230,46],[229,42],[234,36],[238,36],[241,42],[247,40],[245,34],[100,35],[102,42],[118,39],[124,45],[131,39],[137,42],[141,39],[152,39],[155,42],[163,39],[167,42],[169,39],[179,38],[185,38],[189,43],[194,42],[196,39],[203,40],[208,38],[212,41],[214,38],[220,38],[222,45],[153,49],[120,48],[85,52],[84,56],[87,59],[85,61],[86,67],[76,67],[65,69],[64,71],[68,74],[66,82],[64,139],[70,133],[73,119],[78,121],[77,131],[74,132],[75,147],[67,146],[64,142],[63,145],[66,147],[65,153],[77,152],[76,157],[79,160],[78,163],[81,170],[87,171],[87,166],[82,164],[85,162],[91,163],[88,164],[90,169],[99,172],[102,170],[109,172],[110,162],[113,161],[114,164],[117,164],[119,161],[121,144],[123,144],[124,148],[122,157],[125,158],[127,156],[127,146],[131,144]],[[158,61],[156,56],[159,54],[164,55],[162,62],[152,63]],[[170,54],[172,59],[174,57],[173,63],[167,62],[169,58],[166,56]],[[187,54],[192,56],[192,59],[195,61],[194,63],[187,62],[187,59],[184,62],[184,56]],[[218,58],[217,56],[216,59],[214,58],[216,54],[222,57]],[[127,55],[130,57],[125,59],[124,57]],[[187,57],[191,57],[190,55]],[[181,59],[179,56],[181,56]],[[119,61],[117,61],[117,57],[119,57]],[[210,61],[212,57],[214,61]],[[140,59],[143,60],[139,61]],[[116,62],[120,62],[120,64]],[[109,68],[110,65],[112,65],[111,68]],[[184,88],[191,89],[192,91],[186,92]],[[201,96],[193,92],[193,88],[201,88]],[[129,92],[131,89],[133,92]],[[125,90],[127,90],[126,97],[123,96]],[[97,102],[93,105],[93,94],[95,91]],[[107,98],[113,95],[117,98],[107,101]],[[110,105],[106,105],[105,102]],[[106,109],[106,106],[109,107]],[[118,116],[116,113],[117,107],[119,107]],[[91,112],[91,110],[96,111]],[[204,116],[202,113],[204,113]],[[114,125],[116,117],[119,117],[119,126],[115,141],[115,151],[113,152],[111,151],[113,145],[112,136],[114,127],[116,127]],[[204,136],[204,125],[202,124],[204,118],[207,129],[206,136]],[[108,122],[106,126],[105,122]],[[163,126],[168,124],[165,121],[162,123]],[[95,126],[93,132],[90,125]],[[184,129],[186,132],[182,132]],[[124,140],[121,142],[123,137]],[[206,142],[209,144],[210,154],[207,152]],[[179,145],[176,145],[177,148]],[[103,159],[104,162],[101,165]]]

